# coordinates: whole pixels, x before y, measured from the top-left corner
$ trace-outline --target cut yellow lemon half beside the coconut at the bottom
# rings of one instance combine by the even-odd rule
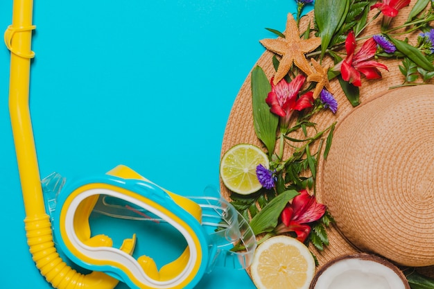
[[[250,270],[258,289],[308,289],[315,261],[299,240],[275,236],[257,247]]]

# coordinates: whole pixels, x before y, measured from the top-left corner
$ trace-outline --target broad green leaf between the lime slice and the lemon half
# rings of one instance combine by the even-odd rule
[[[289,200],[292,200],[298,194],[299,193],[295,190],[288,190],[272,199],[266,207],[263,207],[250,221],[250,227],[252,227],[253,233],[257,235],[275,229],[281,211],[283,211]]]

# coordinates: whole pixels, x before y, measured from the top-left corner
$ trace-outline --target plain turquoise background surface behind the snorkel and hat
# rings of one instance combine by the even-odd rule
[[[35,0],[30,105],[41,177],[125,164],[180,195],[218,186],[227,117],[264,51],[259,40],[275,37],[264,28],[284,30],[295,7],[294,0]],[[11,18],[12,1],[1,0],[0,28]],[[26,244],[9,59],[0,46],[0,287],[51,288]],[[254,286],[244,270],[216,268],[196,288]]]

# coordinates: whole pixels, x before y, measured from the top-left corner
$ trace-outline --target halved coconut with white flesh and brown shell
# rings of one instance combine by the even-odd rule
[[[395,265],[371,254],[341,256],[325,264],[309,289],[410,289]]]

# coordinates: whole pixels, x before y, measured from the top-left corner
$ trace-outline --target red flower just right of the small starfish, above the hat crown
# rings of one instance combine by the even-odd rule
[[[356,87],[362,85],[361,73],[367,79],[381,78],[381,73],[377,67],[388,70],[384,64],[370,60],[376,52],[376,42],[373,38],[368,39],[363,43],[361,49],[354,53],[356,50],[356,37],[354,32],[351,31],[347,40],[345,40],[345,49],[347,50],[347,58],[340,63],[340,73],[342,79],[352,83]]]

